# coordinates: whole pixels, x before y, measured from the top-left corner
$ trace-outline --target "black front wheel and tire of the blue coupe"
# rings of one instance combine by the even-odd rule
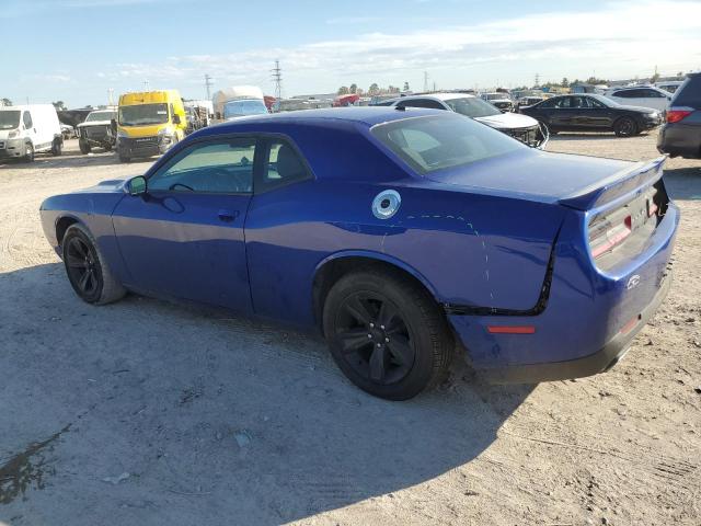
[[[110,271],[94,238],[82,225],[74,224],[66,230],[61,254],[68,281],[83,301],[106,305],[126,294]]]

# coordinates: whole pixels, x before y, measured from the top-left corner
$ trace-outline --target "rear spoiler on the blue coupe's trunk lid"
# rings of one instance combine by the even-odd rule
[[[666,159],[666,156],[662,156],[652,161],[636,162],[630,168],[611,174],[604,181],[597,181],[590,186],[563,197],[559,203],[577,210],[590,210],[606,205],[635,188],[652,185],[662,178],[662,167]]]

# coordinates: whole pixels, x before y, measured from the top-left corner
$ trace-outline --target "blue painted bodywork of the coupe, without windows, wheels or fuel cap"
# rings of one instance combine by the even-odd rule
[[[334,263],[382,262],[429,291],[472,365],[497,381],[586,376],[616,363],[670,283],[679,213],[664,188],[664,159],[631,163],[522,147],[420,174],[372,133],[420,117],[464,118],[342,108],[205,128],[157,161],[147,180],[189,145],[239,136],[285,138],[312,176],[260,194],[160,192],[149,199],[106,181],[46,199],[43,228],[60,254],[66,228],[84,225],[128,289],[309,328],[320,324]],[[659,208],[654,230],[601,267],[591,221],[650,188]],[[389,219],[371,210],[384,190],[401,195]]]

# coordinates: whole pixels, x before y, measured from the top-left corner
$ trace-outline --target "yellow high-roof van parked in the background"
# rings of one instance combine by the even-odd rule
[[[177,90],[125,93],[117,111],[117,155],[122,162],[159,156],[185,137],[187,118]]]

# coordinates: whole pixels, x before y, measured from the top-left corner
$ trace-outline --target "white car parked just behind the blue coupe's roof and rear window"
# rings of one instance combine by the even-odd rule
[[[430,93],[410,95],[383,101],[383,106],[395,107],[430,107],[448,110],[510,135],[515,139],[536,148],[543,148],[548,142],[548,132],[540,123],[528,115],[502,113],[494,105],[468,93]]]

